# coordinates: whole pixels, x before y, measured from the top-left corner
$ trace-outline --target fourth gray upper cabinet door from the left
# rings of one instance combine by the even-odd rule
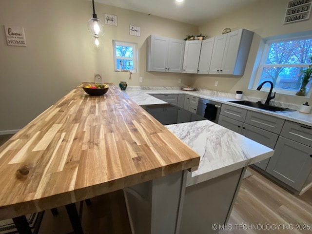
[[[201,43],[198,74],[209,74],[215,38],[203,40]]]

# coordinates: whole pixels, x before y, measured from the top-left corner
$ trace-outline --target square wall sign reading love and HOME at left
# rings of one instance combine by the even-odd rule
[[[26,46],[24,28],[20,26],[4,26],[6,42],[10,46]]]

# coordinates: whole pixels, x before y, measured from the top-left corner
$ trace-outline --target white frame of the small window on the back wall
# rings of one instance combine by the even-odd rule
[[[120,57],[116,55],[116,46],[127,46],[132,47],[132,58],[128,57]],[[131,72],[131,73],[137,73],[138,71],[138,51],[137,51],[137,43],[135,42],[127,42],[127,41],[121,41],[121,40],[113,40],[113,55],[114,55],[114,70],[115,72]],[[125,60],[132,60],[133,61],[133,70],[128,69],[117,69],[117,59],[125,59]]]

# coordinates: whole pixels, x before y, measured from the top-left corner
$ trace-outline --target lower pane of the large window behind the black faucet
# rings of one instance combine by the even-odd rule
[[[273,82],[274,88],[297,91],[301,85],[301,71],[299,67],[265,67],[262,70],[259,84],[269,80]],[[310,88],[311,82],[307,85]],[[264,84],[265,88],[270,88],[270,84]],[[308,89],[309,90],[309,89]]]

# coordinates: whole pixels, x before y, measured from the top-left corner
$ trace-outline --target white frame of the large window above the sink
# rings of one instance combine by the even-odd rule
[[[268,54],[270,52],[271,44],[282,41],[289,40],[298,40],[298,39],[312,39],[312,31],[306,31],[302,33],[294,33],[288,35],[282,35],[277,37],[270,37],[261,40],[260,48],[258,51],[258,55],[254,65],[254,70],[252,74],[252,78],[249,83],[249,89],[256,90],[258,87],[259,80],[261,79],[262,71],[265,67],[299,67],[299,68],[308,68],[309,63],[298,63],[298,64],[266,64]],[[262,87],[261,91],[270,91],[269,87]],[[296,91],[281,89],[281,88],[273,88],[273,91],[278,94],[284,95],[295,95]],[[310,97],[312,94],[312,88],[310,88],[306,97]]]

